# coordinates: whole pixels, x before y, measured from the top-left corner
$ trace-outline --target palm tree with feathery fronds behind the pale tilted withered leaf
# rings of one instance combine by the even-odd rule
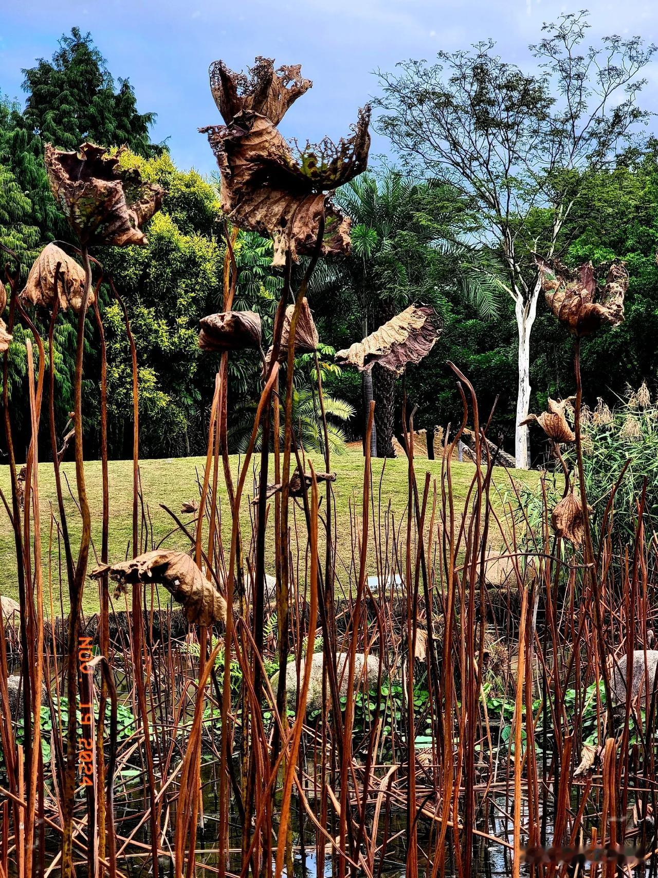
[[[378,176],[361,174],[335,198],[352,219],[352,254],[321,263],[311,292],[319,298],[347,291],[363,336],[415,300],[441,311],[446,300],[437,280],[446,275],[454,276],[481,316],[496,315],[502,289],[497,266],[464,241],[476,226],[452,184],[416,180],[387,168]],[[392,457],[395,375],[375,365],[372,373],[363,372],[362,391],[365,417],[373,397],[377,403],[371,453]]]

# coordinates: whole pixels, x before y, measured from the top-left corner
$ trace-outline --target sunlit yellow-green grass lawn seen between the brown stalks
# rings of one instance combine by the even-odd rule
[[[251,500],[254,494],[254,473],[258,466],[259,456],[253,458],[251,472],[247,476],[246,491],[249,494],[248,500]],[[324,470],[324,465],[316,458],[314,460],[318,470]],[[418,487],[422,492],[426,471],[430,472],[433,479],[436,479],[437,490],[440,492],[440,462],[428,461],[425,459],[416,460],[416,474],[418,479]],[[175,528],[175,522],[161,508],[161,504],[165,504],[172,509],[176,515],[180,514],[181,504],[185,500],[193,500],[198,498],[197,474],[199,479],[203,479],[205,460],[202,457],[181,457],[175,459],[162,460],[143,460],[140,462],[141,485],[144,494],[144,501],[147,505],[148,515],[150,517],[151,526],[153,528],[154,542],[159,543],[164,537],[163,545],[167,548],[182,549],[187,551],[190,548],[189,539],[180,531],[167,536],[169,531]],[[239,458],[232,456],[231,466],[234,473],[237,472]],[[270,458],[270,472],[273,469],[273,461]],[[375,515],[377,514],[377,506],[380,492],[380,477],[384,462],[381,459],[373,461],[373,486],[375,496]],[[110,559],[111,561],[123,560],[126,555],[128,545],[132,540],[132,461],[118,460],[111,461],[110,468]],[[352,557],[352,537],[353,528],[351,528],[351,510],[352,520],[354,521],[354,509],[360,514],[361,512],[361,491],[363,480],[363,457],[359,451],[348,450],[345,455],[333,458],[332,470],[336,472],[337,479],[333,485],[335,503],[336,503],[336,522],[337,522],[337,546],[338,546],[338,572],[343,582],[347,582],[347,568],[350,565]],[[72,491],[75,493],[75,465],[66,463],[62,465],[62,472]],[[219,498],[222,516],[222,536],[225,545],[225,554],[228,556],[228,546],[230,543],[231,521],[228,512],[228,504],[224,479],[222,477],[222,469],[220,464],[219,478]],[[455,511],[461,512],[463,498],[468,490],[471,479],[474,475],[474,467],[472,464],[453,464],[453,485],[455,496]],[[85,464],[85,477],[87,482],[87,492],[89,495],[89,507],[91,509],[92,519],[92,540],[96,551],[100,552],[101,541],[101,510],[102,510],[102,485],[101,485],[101,464],[100,461],[89,461]],[[537,473],[518,472],[514,474],[515,479],[536,480]],[[80,515],[78,513],[75,501],[68,492],[67,482],[64,479],[65,507],[67,511],[68,528],[74,547],[74,554],[77,551],[77,545],[80,537]],[[237,480],[237,479],[236,479]],[[273,479],[270,479],[270,481]],[[497,469],[494,476],[494,484],[497,487],[497,498],[495,500],[497,506],[502,506],[502,497],[508,492],[510,485],[509,475],[503,469]],[[6,466],[0,467],[0,487],[6,497],[9,498],[11,493],[9,471]],[[322,489],[324,493],[324,488]],[[496,492],[493,492],[496,493]],[[387,460],[385,462],[383,479],[381,482],[381,509],[382,514],[389,506],[399,522],[400,516],[404,515],[407,501],[407,463],[403,459]],[[46,589],[46,606],[48,599],[48,567],[49,558],[52,567],[52,583],[54,590],[55,607],[59,605],[59,562],[57,557],[57,529],[54,526],[52,515],[57,515],[57,500],[54,487],[54,473],[52,464],[40,464],[39,466],[39,499],[41,504],[41,540],[42,540],[42,557],[45,572],[44,587]],[[247,498],[242,501],[241,522],[242,535],[245,543],[246,551],[248,544],[252,539],[252,528],[249,519],[250,511],[253,507],[249,505]],[[320,513],[324,510],[325,503],[320,506]],[[439,500],[440,506],[440,500]],[[190,522],[193,516],[182,515],[184,522]],[[383,518],[383,515],[382,515]],[[428,515],[429,518],[429,515]],[[273,571],[273,515],[270,516],[268,522],[269,538],[268,538],[268,567],[269,572]],[[298,529],[299,543],[299,563],[300,570],[304,570],[304,547],[305,547],[305,527],[304,512],[301,506],[294,504],[290,515],[291,528]],[[372,533],[372,529],[371,529]],[[402,531],[404,537],[404,529]],[[52,538],[52,551],[49,551],[49,543]],[[375,554],[373,548],[372,536],[369,541],[368,561],[370,570],[375,572]],[[295,555],[297,540],[293,536],[293,556]],[[89,558],[89,569],[95,565],[94,549],[92,548]],[[12,598],[18,597],[18,588],[16,582],[16,555],[14,551],[13,532],[9,518],[0,507],[0,594],[8,595]],[[62,569],[63,569],[63,552],[62,552]],[[64,585],[66,592],[66,584]],[[64,601],[66,606],[67,601]],[[86,612],[92,612],[97,609],[97,585],[94,581],[88,580],[85,587],[84,609]]]

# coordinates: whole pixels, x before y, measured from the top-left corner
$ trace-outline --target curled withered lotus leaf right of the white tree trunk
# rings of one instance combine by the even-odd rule
[[[556,261],[534,258],[548,307],[573,335],[590,335],[604,323],[618,326],[624,320],[628,272],[622,263],[612,263],[602,289],[591,263],[574,273]]]

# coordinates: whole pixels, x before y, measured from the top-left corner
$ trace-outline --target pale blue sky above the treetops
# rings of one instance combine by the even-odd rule
[[[154,139],[169,138],[180,167],[210,173],[214,159],[197,127],[219,119],[207,74],[217,58],[236,69],[258,54],[301,63],[313,88],[291,108],[283,133],[338,139],[376,93],[375,68],[489,37],[505,60],[530,65],[527,46],[542,22],[583,5],[593,38],[640,34],[658,43],[658,11],[645,0],[0,0],[0,90],[22,102],[21,68],[50,57],[61,33],[78,25],[112,74],[130,78],[139,109],[157,112]],[[647,77],[641,103],[658,112],[658,62]],[[372,153],[385,151],[375,137]]]

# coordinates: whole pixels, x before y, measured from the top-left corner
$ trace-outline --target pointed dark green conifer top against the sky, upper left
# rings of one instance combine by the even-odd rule
[[[74,27],[63,35],[52,61],[39,58],[23,70],[27,92],[24,118],[43,143],[77,149],[85,140],[103,146],[125,144],[138,155],[153,155],[148,130],[155,114],[139,113],[132,85],[114,79],[86,33]]]

